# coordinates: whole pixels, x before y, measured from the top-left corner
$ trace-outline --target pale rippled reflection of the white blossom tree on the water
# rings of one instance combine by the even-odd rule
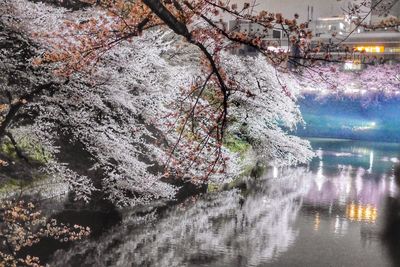
[[[300,169],[283,178],[252,181],[246,197],[233,190],[201,197],[147,223],[129,218],[101,242],[86,242],[56,258],[65,266],[84,251],[93,266],[247,266],[269,261],[293,243],[292,222],[308,188]],[[99,257],[101,255],[101,257]],[[68,259],[68,260],[66,260]],[[82,259],[80,259],[82,260]],[[62,262],[61,262],[62,261]]]

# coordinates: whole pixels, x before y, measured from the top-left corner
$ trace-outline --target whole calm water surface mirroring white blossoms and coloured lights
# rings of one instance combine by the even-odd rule
[[[312,140],[309,167],[133,215],[54,266],[400,266],[400,145]]]

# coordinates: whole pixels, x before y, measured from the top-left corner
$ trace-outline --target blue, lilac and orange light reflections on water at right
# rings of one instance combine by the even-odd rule
[[[324,139],[312,145],[317,158],[294,226],[299,235],[265,266],[398,266],[390,253],[398,241],[384,236],[400,228],[399,205],[388,205],[398,202],[393,166],[400,146]],[[387,223],[391,217],[396,225]]]

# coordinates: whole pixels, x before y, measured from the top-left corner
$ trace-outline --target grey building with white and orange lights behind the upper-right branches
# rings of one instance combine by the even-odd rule
[[[365,22],[376,23],[388,17],[400,16],[400,0],[383,0],[378,5],[378,8],[371,12]],[[241,1],[238,1],[239,3]],[[245,1],[246,2],[246,1]],[[260,3],[255,9],[264,8],[272,12],[281,12],[278,8],[283,6],[286,0],[279,1],[280,4],[273,1],[266,0],[265,3]],[[335,3],[336,2],[336,3]],[[383,63],[383,62],[400,62],[400,29],[399,27],[383,28],[376,31],[370,31],[363,27],[355,29],[355,25],[351,23],[349,16],[343,15],[343,7],[349,1],[329,1],[324,4],[320,1],[308,0],[301,1],[294,4],[292,1],[287,6],[289,10],[283,12],[287,17],[292,17],[295,13],[300,13],[300,22],[308,22],[308,28],[312,30],[314,37],[312,44],[317,43],[333,44],[334,49],[329,48],[329,53],[332,56],[341,57],[346,54],[342,48],[334,46],[335,43],[340,42],[343,47],[349,47],[355,51],[355,58],[352,61],[359,61],[361,63]],[[372,1],[375,5],[376,1]],[[329,4],[328,4],[329,3]],[[385,5],[389,6],[389,14],[383,16],[379,12],[379,7]],[[286,7],[285,7],[286,8]],[[366,13],[368,8],[366,8]],[[274,10],[276,9],[276,10]],[[292,10],[293,9],[293,10]],[[293,12],[290,15],[286,14]],[[229,18],[225,18],[229,20]],[[232,20],[229,22],[230,31],[244,32],[250,36],[257,36],[262,38],[266,48],[271,50],[284,50],[290,51],[291,44],[288,42],[288,36],[284,29],[268,29],[260,27],[256,23],[250,23],[245,20]],[[349,36],[349,34],[351,35]],[[322,51],[324,53],[326,51]],[[250,47],[239,47],[234,50],[236,54],[252,54],[256,53],[255,49]],[[349,62],[347,62],[349,63]],[[362,65],[362,64],[361,64]],[[360,65],[344,65],[344,69],[348,71],[360,70]]]

